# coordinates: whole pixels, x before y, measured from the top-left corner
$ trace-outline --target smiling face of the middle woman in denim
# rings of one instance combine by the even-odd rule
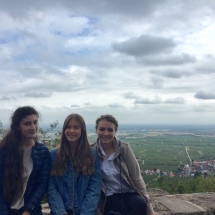
[[[71,144],[77,144],[81,137],[81,125],[75,119],[70,119],[64,131],[65,137]]]

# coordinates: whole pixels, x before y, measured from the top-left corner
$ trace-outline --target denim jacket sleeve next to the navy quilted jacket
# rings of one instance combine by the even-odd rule
[[[52,166],[54,164],[54,160],[56,158],[57,149],[51,151],[52,157]],[[51,209],[52,214],[54,215],[63,215],[66,214],[66,209],[64,207],[63,199],[61,198],[60,193],[58,192],[57,187],[57,177],[51,175],[48,185],[47,199],[49,203],[49,207]]]

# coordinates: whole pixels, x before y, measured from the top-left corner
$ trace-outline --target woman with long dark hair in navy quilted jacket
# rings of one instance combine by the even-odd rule
[[[48,148],[37,142],[38,112],[16,109],[0,141],[0,214],[42,215],[40,202],[50,174]]]

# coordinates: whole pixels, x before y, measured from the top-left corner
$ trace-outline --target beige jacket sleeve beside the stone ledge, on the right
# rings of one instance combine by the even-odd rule
[[[128,169],[129,177],[131,178],[136,190],[138,190],[142,194],[142,196],[146,197],[148,202],[148,213],[152,214],[154,211],[152,205],[150,204],[149,195],[146,191],[146,184],[140,173],[139,163],[137,162],[137,159],[135,158],[135,155],[129,144],[126,144],[122,155]]]

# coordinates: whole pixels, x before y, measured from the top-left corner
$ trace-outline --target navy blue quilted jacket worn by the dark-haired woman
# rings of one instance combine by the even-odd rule
[[[0,151],[0,214],[9,215],[10,205],[5,203],[3,198],[3,178],[4,178],[4,158],[10,156],[3,150]],[[35,142],[32,147],[31,157],[33,160],[33,170],[29,177],[24,193],[24,210],[31,215],[42,215],[40,202],[47,190],[50,174],[50,153],[48,148]]]

